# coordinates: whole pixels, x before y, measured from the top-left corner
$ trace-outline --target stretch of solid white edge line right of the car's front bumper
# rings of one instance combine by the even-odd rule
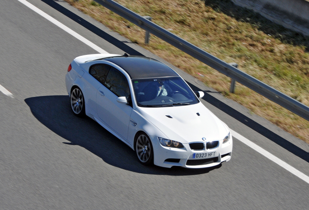
[[[235,138],[240,140],[242,143],[251,147],[252,149],[254,149],[258,153],[262,154],[263,156],[267,157],[268,159],[274,161],[276,164],[278,164],[279,166],[281,166],[285,170],[291,172],[293,175],[296,175],[297,177],[301,178],[302,180],[304,180],[305,182],[307,182],[309,184],[309,176],[308,175],[305,175],[304,173],[298,171],[297,169],[295,169],[294,167],[292,167],[288,163],[282,161],[278,157],[275,157],[273,154],[271,154],[270,152],[267,152],[262,147],[258,146],[257,144],[253,143],[252,141],[241,136],[239,133],[237,133],[237,132],[235,132],[231,129],[230,129],[230,131],[232,132],[232,136],[234,136]]]

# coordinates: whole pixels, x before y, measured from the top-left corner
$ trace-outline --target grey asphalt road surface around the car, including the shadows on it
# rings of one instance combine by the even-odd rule
[[[109,53],[156,57],[62,1],[28,1]],[[70,110],[67,68],[89,53],[97,52],[18,0],[0,1],[0,85],[14,95],[0,92],[1,210],[308,209],[307,182],[236,138],[231,161],[215,168],[138,163]],[[308,144],[177,71],[206,91],[203,103],[231,129],[309,175]]]

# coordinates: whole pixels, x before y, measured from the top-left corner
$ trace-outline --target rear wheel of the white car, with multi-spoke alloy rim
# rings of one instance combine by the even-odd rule
[[[85,100],[80,88],[73,88],[70,96],[70,104],[73,113],[78,117],[84,117],[85,114]]]

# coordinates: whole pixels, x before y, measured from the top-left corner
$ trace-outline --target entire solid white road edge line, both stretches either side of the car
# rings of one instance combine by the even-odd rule
[[[55,25],[59,26],[60,28],[62,28],[63,30],[65,30],[69,34],[73,35],[74,37],[78,38],[79,40],[84,42],[86,45],[92,47],[94,50],[98,51],[99,53],[107,53],[106,51],[104,51],[103,49],[101,49],[97,45],[93,44],[92,42],[90,42],[89,40],[84,38],[83,36],[77,34],[76,32],[74,32],[71,29],[69,29],[67,26],[65,26],[62,23],[60,23],[58,20],[56,20],[54,18],[51,18],[51,16],[47,15],[46,13],[41,11],[40,9],[36,8],[34,5],[30,4],[28,1],[26,1],[26,0],[18,0],[18,1],[20,1],[23,4],[25,4],[26,6],[28,6],[29,8],[31,8],[32,10],[34,10],[35,12],[37,12],[38,14],[43,16],[44,18],[50,20],[52,23],[54,23]],[[304,180],[305,182],[307,182],[309,184],[309,176],[307,176],[304,173],[298,171],[297,169],[295,169],[294,167],[290,166],[286,162],[282,161],[278,157],[275,157],[274,155],[272,155],[271,153],[267,152],[266,150],[264,150],[263,148],[261,148],[257,144],[255,144],[252,141],[250,141],[250,140],[246,139],[245,137],[241,136],[239,133],[237,133],[237,132],[235,132],[233,130],[231,130],[231,132],[232,132],[232,135],[235,138],[237,138],[238,140],[240,140],[241,142],[243,142],[247,146],[251,147],[252,149],[256,150],[258,153],[262,154],[263,156],[265,156],[265,157],[269,158],[270,160],[274,161],[279,166],[283,167],[284,169],[286,169],[287,171],[289,171],[293,175],[296,175],[297,177],[301,178],[302,180]]]

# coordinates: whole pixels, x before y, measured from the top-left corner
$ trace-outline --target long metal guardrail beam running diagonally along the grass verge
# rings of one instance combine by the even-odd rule
[[[299,115],[300,117],[309,121],[309,107],[294,100],[288,95],[272,88],[265,83],[257,80],[256,78],[250,76],[247,73],[225,63],[219,58],[203,51],[202,49],[192,45],[186,40],[172,34],[171,32],[161,28],[160,26],[154,24],[153,22],[145,19],[131,10],[125,8],[119,3],[113,0],[95,0],[97,3],[103,5],[107,9],[120,15],[122,18],[129,20],[130,22],[136,24],[140,28],[150,32],[151,34],[161,38],[162,40],[170,43],[179,50],[188,53],[192,57],[200,60],[206,65],[212,67],[215,70],[220,71],[224,75],[232,78],[233,80],[239,82],[240,84],[254,90],[255,92],[261,94],[262,96],[270,99],[278,105],[292,111],[293,113]]]

